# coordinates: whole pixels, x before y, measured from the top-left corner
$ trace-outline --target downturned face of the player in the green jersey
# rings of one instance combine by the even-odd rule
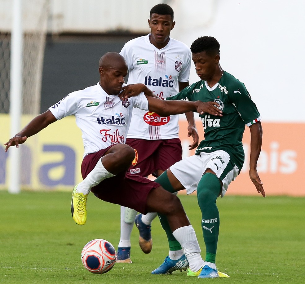
[[[213,78],[219,66],[219,55],[208,55],[206,51],[192,53],[195,70],[201,80],[209,81]]]

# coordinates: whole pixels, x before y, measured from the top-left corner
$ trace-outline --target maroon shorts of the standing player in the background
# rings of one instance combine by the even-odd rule
[[[179,138],[145,140],[127,138],[126,144],[135,149],[135,159],[129,168],[130,174],[157,177],[157,170],[166,171],[182,159]]]

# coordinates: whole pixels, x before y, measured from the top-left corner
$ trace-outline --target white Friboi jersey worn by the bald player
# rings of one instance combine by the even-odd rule
[[[49,110],[57,120],[75,115],[82,131],[85,157],[110,145],[125,143],[134,107],[148,110],[148,100],[143,93],[123,104],[117,95],[108,95],[97,83],[70,93]]]

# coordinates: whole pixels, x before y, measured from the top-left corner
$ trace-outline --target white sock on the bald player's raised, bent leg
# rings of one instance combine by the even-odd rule
[[[92,187],[98,185],[102,180],[113,176],[115,175],[108,172],[104,168],[102,161],[99,160],[86,178],[77,185],[76,191],[78,193],[88,194]]]

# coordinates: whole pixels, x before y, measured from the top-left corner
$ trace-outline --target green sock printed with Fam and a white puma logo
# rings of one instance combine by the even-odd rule
[[[197,187],[198,205],[201,210],[201,228],[206,244],[206,261],[215,263],[219,234],[219,211],[216,199],[221,184],[218,177],[211,173],[202,176]]]

